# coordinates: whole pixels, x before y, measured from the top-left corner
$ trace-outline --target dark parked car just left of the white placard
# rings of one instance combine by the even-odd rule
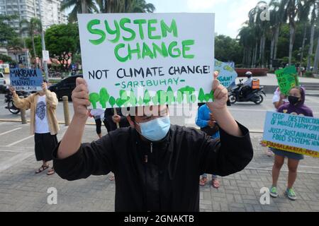
[[[57,94],[57,99],[61,100],[63,96],[69,97],[71,100],[72,91],[75,88],[75,81],[77,78],[83,78],[82,75],[71,76],[63,79],[60,83],[56,83],[49,87],[51,92],[55,92]]]

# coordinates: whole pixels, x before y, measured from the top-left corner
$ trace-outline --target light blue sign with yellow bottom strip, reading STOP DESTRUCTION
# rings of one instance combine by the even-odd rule
[[[263,140],[272,148],[319,157],[319,119],[267,112]]]

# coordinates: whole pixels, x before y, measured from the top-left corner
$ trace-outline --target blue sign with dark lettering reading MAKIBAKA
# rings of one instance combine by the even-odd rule
[[[42,72],[40,69],[10,69],[10,83],[16,90],[42,90]]]

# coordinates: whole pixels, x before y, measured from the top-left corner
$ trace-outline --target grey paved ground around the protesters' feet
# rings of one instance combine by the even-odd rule
[[[173,121],[174,123],[174,121]],[[113,211],[115,183],[108,176],[67,182],[57,174],[34,174],[40,167],[35,161],[33,136],[28,124],[0,122],[0,211]],[[62,126],[60,140],[67,127]],[[103,129],[103,133],[106,133]],[[95,126],[86,126],[84,142],[97,138]],[[220,188],[207,184],[200,188],[201,211],[319,211],[318,159],[305,156],[298,168],[295,189],[297,201],[284,197],[287,167],[279,178],[279,198],[269,205],[259,202],[260,189],[272,184],[273,157],[259,145],[261,133],[251,134],[254,159],[242,172],[220,178]],[[52,163],[51,163],[52,165]],[[49,205],[47,189],[57,189],[57,205]]]

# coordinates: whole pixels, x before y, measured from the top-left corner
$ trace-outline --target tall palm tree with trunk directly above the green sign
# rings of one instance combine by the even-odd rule
[[[296,35],[296,17],[298,16],[298,2],[301,0],[281,0],[280,11],[284,13],[284,20],[289,21],[289,65],[291,65],[293,44]]]

